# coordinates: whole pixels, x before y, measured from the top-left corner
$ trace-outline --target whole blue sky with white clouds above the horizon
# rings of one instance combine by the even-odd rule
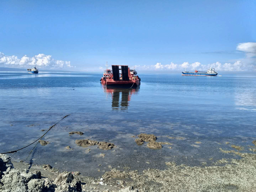
[[[256,71],[256,1],[0,1],[0,67]]]

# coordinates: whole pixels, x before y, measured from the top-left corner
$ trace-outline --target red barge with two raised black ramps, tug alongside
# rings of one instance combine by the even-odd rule
[[[141,79],[136,74],[137,72],[130,70],[127,65],[112,65],[112,71],[108,68],[104,71],[101,83],[115,87],[137,87]]]

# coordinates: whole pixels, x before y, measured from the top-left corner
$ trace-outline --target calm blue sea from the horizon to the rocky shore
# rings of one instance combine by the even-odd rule
[[[111,168],[164,169],[170,161],[210,166],[241,158],[221,150],[237,151],[235,145],[241,153],[254,153],[249,149],[256,140],[256,76],[221,75],[138,73],[140,86],[117,89],[100,83],[102,73],[1,71],[0,153],[33,143],[58,122],[42,138],[47,145],[35,142],[9,154],[12,161],[98,177]],[[141,133],[166,144],[137,145]],[[115,147],[81,147],[78,139]]]

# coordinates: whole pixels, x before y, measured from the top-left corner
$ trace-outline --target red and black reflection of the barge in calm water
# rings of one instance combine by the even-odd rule
[[[106,87],[102,85],[105,93],[110,94],[112,97],[112,110],[126,110],[129,106],[129,101],[131,101],[131,96],[138,93],[140,86],[136,89],[125,89],[125,88],[114,88]],[[120,101],[121,96],[121,101]]]

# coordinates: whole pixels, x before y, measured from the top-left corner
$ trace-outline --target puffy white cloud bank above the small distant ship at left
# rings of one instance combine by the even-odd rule
[[[5,67],[28,67],[36,65],[38,67],[48,68],[63,68],[73,67],[70,65],[70,61],[55,60],[51,55],[38,54],[33,57],[27,57],[24,55],[22,58],[17,56],[7,56],[0,52],[0,65]]]

